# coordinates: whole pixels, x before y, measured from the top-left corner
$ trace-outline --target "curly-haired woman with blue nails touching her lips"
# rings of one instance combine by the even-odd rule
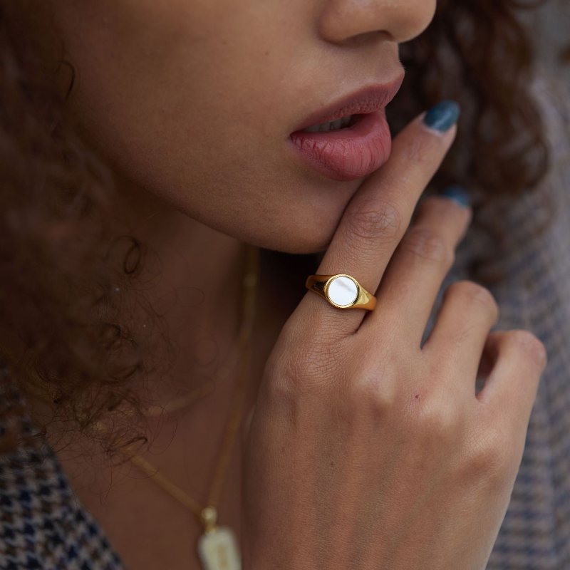
[[[467,239],[495,240],[477,275],[518,276],[485,209],[544,175],[511,4],[440,4],[399,95],[398,44],[435,2],[2,4],[6,568],[231,569],[238,548],[248,570],[484,568],[546,352],[514,330],[537,321],[489,332],[497,301],[473,281],[434,322],[472,209],[456,187],[415,209],[459,115],[418,98],[465,100],[434,188],[475,190]],[[489,29],[482,49],[470,31]],[[244,244],[326,251],[296,269],[264,255],[235,366],[256,284]],[[308,274],[348,277],[323,299]],[[338,306],[353,279],[366,309]],[[568,534],[548,536],[544,568],[567,556]]]

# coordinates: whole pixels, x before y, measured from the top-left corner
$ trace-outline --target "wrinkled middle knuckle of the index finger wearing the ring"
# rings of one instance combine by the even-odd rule
[[[389,202],[360,200],[348,212],[350,233],[363,242],[395,239],[403,231],[403,215]]]

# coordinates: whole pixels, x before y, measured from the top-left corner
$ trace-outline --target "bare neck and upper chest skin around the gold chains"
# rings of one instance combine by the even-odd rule
[[[160,259],[160,279],[149,280],[145,294],[152,304],[160,305],[160,318],[166,322],[169,338],[182,348],[170,373],[172,385],[191,389],[204,380],[212,385],[209,379],[224,362],[239,328],[244,244],[130,187],[121,190],[115,211],[119,232],[138,237],[148,244],[149,253],[156,252]],[[294,297],[287,302],[281,281],[273,279],[270,271],[263,271],[260,277],[244,415],[252,410],[266,358],[298,302]],[[264,308],[268,309],[259,310]],[[148,423],[150,431],[159,435],[150,434],[152,445],[150,452],[143,454],[145,459],[203,506],[219,459],[236,372],[224,380],[215,380],[214,390],[197,400],[184,415],[175,413],[175,421],[170,422],[166,414]],[[155,401],[162,404],[176,395],[175,390],[156,394]],[[238,533],[242,436],[243,430],[234,444],[218,505],[220,524]],[[159,541],[165,544],[186,544],[189,532],[202,532],[188,509],[148,480],[138,467],[130,462],[113,467],[116,460],[109,465],[101,450],[95,450],[100,453],[89,460],[86,449],[90,449],[90,442],[80,441],[61,451],[60,459],[78,497],[119,549],[129,551],[140,544],[141,536],[150,542],[160,535]],[[141,516],[133,519],[131,514],[139,510]]]

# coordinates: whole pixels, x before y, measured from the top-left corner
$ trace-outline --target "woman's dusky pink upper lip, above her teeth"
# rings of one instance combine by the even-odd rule
[[[311,113],[294,132],[296,133],[298,130],[303,130],[313,125],[328,123],[331,120],[337,120],[348,115],[373,113],[390,103],[395,94],[398,93],[403,80],[404,73],[401,73],[397,79],[390,81],[390,83],[373,83],[356,91],[356,93],[351,93],[351,95],[336,100],[328,107]]]

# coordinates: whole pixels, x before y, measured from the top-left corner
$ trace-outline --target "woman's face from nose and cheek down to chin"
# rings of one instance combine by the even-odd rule
[[[76,69],[71,113],[121,177],[221,232],[308,253],[388,157],[381,108],[403,78],[398,43],[423,31],[435,0],[49,6]],[[354,114],[338,103],[366,88],[378,90],[361,112],[376,113],[291,137],[335,103]]]

